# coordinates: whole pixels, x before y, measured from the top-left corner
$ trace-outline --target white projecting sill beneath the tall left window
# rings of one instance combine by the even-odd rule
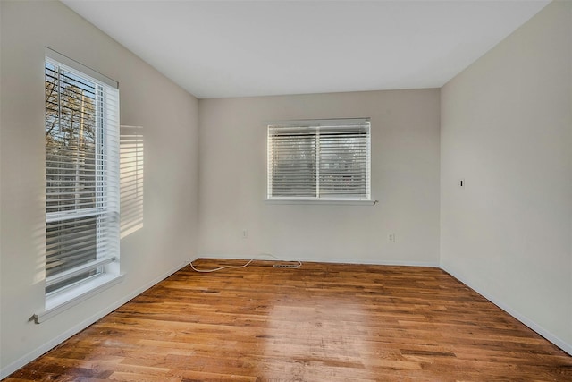
[[[94,277],[93,279],[78,284],[77,286],[54,293],[46,297],[46,309],[34,314],[34,321],[39,324],[46,319],[53,318],[62,313],[64,310],[70,309],[72,306],[79,304],[81,301],[87,300],[89,297],[97,293],[105,291],[105,289],[122,282],[125,274],[114,275],[104,274]]]

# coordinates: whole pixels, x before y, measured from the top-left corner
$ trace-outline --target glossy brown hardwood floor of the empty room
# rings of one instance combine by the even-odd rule
[[[572,357],[440,269],[272,265],[185,267],[5,381],[572,381]]]

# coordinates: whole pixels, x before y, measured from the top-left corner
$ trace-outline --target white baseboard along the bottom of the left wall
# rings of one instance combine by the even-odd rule
[[[112,311],[114,311],[117,308],[119,308],[120,306],[122,306],[127,301],[130,301],[131,299],[137,297],[139,294],[147,291],[147,289],[149,289],[151,286],[163,281],[165,278],[167,278],[168,276],[171,276],[173,273],[177,272],[182,267],[187,266],[187,264],[188,264],[188,262],[185,261],[184,263],[178,265],[177,267],[173,267],[172,269],[165,272],[163,275],[156,277],[155,279],[153,279],[149,283],[144,284],[143,286],[139,287],[138,289],[136,289],[135,291],[133,291],[129,295],[124,296],[124,297],[122,297],[122,299],[115,301],[114,303],[105,307],[102,310],[99,310],[93,316],[86,318],[85,320],[81,321],[79,324],[77,324],[77,325],[71,327],[70,329],[66,330],[65,332],[63,332],[61,335],[58,335],[54,339],[48,341],[46,344],[42,344],[41,346],[39,346],[38,348],[29,352],[28,354],[24,355],[20,359],[13,361],[9,365],[6,365],[4,368],[0,369],[0,379],[8,377],[14,371],[21,369],[21,367],[23,367],[26,364],[28,364],[29,362],[37,359],[40,355],[52,350],[58,344],[62,344],[63,341],[67,340],[72,335],[76,335],[76,334],[80,333],[81,330],[90,326],[91,324],[96,322],[98,319],[105,317],[106,315],[108,315]]]

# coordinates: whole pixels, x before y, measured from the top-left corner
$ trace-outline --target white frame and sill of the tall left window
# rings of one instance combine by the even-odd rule
[[[94,174],[84,174],[83,176],[87,177],[85,177],[86,180],[82,181],[84,183],[93,183],[90,187],[90,189],[93,191],[90,192],[93,192],[94,196],[92,197],[93,199],[91,199],[92,201],[88,202],[89,206],[87,208],[78,207],[81,205],[81,203],[84,202],[80,201],[80,204],[78,204],[77,200],[79,199],[77,198],[82,197],[77,193],[74,199],[71,199],[71,202],[65,202],[76,204],[76,208],[55,208],[53,207],[53,204],[48,207],[50,202],[53,203],[54,200],[59,201],[57,199],[59,193],[55,194],[55,199],[50,199],[48,197],[48,184],[50,183],[48,180],[47,168],[48,165],[53,166],[54,162],[48,160],[48,147],[46,140],[46,243],[49,238],[50,242],[55,242],[54,245],[60,245],[58,243],[62,243],[61,245],[65,246],[66,240],[61,240],[58,236],[61,233],[54,232],[59,229],[61,232],[63,232],[63,234],[69,235],[71,233],[71,229],[66,227],[66,225],[71,225],[75,229],[77,225],[81,225],[81,223],[78,223],[80,222],[80,219],[90,220],[93,218],[93,224],[95,228],[78,229],[80,231],[83,229],[83,231],[80,233],[80,244],[83,243],[86,238],[88,238],[87,240],[90,241],[91,239],[89,238],[93,237],[93,242],[95,243],[95,249],[93,250],[95,253],[95,259],[88,261],[87,258],[93,258],[93,255],[88,255],[85,256],[86,259],[82,259],[81,262],[78,263],[78,266],[75,266],[74,263],[70,263],[70,267],[67,269],[63,269],[54,275],[46,275],[46,309],[34,315],[37,323],[46,318],[53,317],[56,312],[67,309],[67,307],[73,305],[73,301],[83,301],[91,294],[97,293],[97,291],[103,290],[108,286],[116,284],[122,279],[119,268],[119,84],[116,81],[105,77],[103,74],[95,72],[87,66],[77,63],[74,60],[71,60],[71,58],[61,55],[47,47],[45,60],[45,78],[46,72],[48,71],[48,65],[55,66],[58,71],[57,80],[55,80],[55,82],[58,84],[58,111],[55,113],[55,118],[58,120],[64,116],[60,103],[60,97],[63,95],[63,88],[60,88],[62,82],[60,82],[61,79],[59,78],[59,72],[61,70],[71,73],[71,75],[73,75],[76,80],[86,80],[95,84],[93,88],[95,89],[93,96],[94,130],[92,132],[93,141],[91,143],[94,146],[93,153],[91,154],[93,155],[93,164],[91,165],[91,168],[93,169],[88,171]],[[47,83],[47,80],[45,80],[45,83]],[[83,99],[83,96],[81,99]],[[81,105],[83,105],[84,101],[81,102]],[[84,117],[85,115],[81,114],[80,119],[83,119]],[[45,120],[47,123],[47,106]],[[59,127],[60,122],[58,122],[57,125]],[[83,125],[83,122],[81,125]],[[71,129],[73,129],[72,126]],[[46,126],[45,131],[47,136]],[[91,153],[91,151],[89,152]],[[81,155],[85,155],[85,153],[81,151]],[[63,160],[63,164],[65,163],[65,160]],[[65,177],[64,175],[58,175],[56,172],[54,176],[55,180],[52,181],[53,183],[51,183],[50,186],[57,182],[60,182],[61,184],[64,182],[63,180],[58,180],[57,178],[58,176]],[[78,182],[77,178],[76,182]],[[59,185],[55,187],[59,187],[61,189],[64,186]],[[69,204],[65,207],[69,207]],[[52,233],[48,233],[48,227],[53,224],[56,225],[55,230],[52,231]],[[57,227],[57,225],[60,227]],[[93,231],[93,233],[91,233],[91,231]],[[52,234],[52,236],[49,236],[50,234]],[[70,240],[67,241],[68,245],[69,242]],[[67,249],[64,249],[63,251],[65,250]],[[52,253],[52,255],[54,254]],[[46,265],[47,259],[48,255],[46,253]],[[71,265],[73,265],[73,267],[71,267]]]

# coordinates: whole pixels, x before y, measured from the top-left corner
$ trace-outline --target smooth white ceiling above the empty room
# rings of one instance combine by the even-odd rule
[[[440,88],[548,0],[63,0],[198,98]]]

